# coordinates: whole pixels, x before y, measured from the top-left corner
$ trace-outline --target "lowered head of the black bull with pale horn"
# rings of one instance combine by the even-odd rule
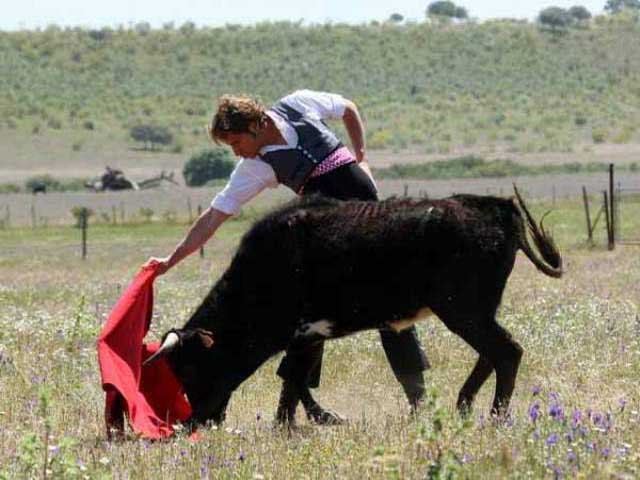
[[[216,343],[214,334],[204,329],[171,330],[143,364],[167,359],[187,394],[193,424],[222,422],[231,392],[244,380],[235,352]]]

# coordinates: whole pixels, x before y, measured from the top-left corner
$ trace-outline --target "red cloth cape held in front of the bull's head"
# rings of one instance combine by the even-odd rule
[[[107,436],[124,432],[124,415],[144,438],[173,435],[172,425],[191,415],[182,385],[166,360],[148,367],[142,362],[159,343],[142,343],[153,312],[153,281],[157,266],[143,268],[122,294],[98,337],[98,362],[106,392]]]

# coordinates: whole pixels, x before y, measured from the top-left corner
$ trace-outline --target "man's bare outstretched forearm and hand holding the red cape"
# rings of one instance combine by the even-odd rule
[[[173,253],[165,258],[150,258],[145,265],[159,263],[158,275],[162,275],[175,264],[180,262],[185,257],[195,252],[198,248],[204,245],[218,227],[224,223],[228,215],[213,207],[207,208],[202,215],[198,217],[195,223],[191,226],[191,229],[187,233],[182,242],[178,244]]]

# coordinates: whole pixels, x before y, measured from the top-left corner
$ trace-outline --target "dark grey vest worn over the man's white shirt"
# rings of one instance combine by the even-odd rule
[[[298,134],[296,148],[287,148],[260,155],[276,172],[278,182],[298,193],[317,165],[342,146],[338,137],[321,120],[302,113],[279,101],[271,111],[289,123]]]

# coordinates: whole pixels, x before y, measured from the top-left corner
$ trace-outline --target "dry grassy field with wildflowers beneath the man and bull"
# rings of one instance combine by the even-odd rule
[[[539,217],[549,205],[532,202]],[[230,261],[252,214],[156,282],[150,337],[181,325]],[[330,342],[322,404],[349,417],[273,426],[277,359],[235,393],[227,422],[192,443],[105,440],[95,340],[124,286],[183,224],[95,225],[80,260],[70,226],[0,230],[0,478],[637,478],[640,475],[640,257],[584,242],[582,207],[548,217],[566,276],[519,256],[500,322],[525,348],[511,419],[487,417],[493,379],[471,418],[453,413],[475,360],[437,321],[419,325],[429,400],[410,417],[377,333]],[[640,231],[632,216],[625,229]],[[268,319],[265,319],[267,321]]]

